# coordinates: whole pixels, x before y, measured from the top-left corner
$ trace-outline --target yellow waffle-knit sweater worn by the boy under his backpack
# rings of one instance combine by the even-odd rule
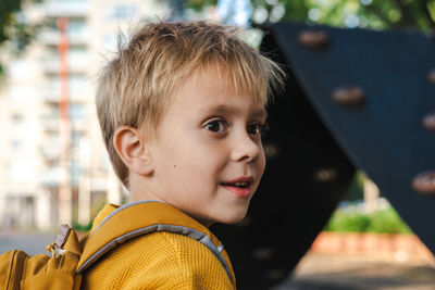
[[[89,232],[117,207],[105,205]],[[172,211],[194,220],[175,207]],[[87,239],[82,240],[82,248]],[[236,289],[229,259],[225,250],[221,254],[228,272],[208,247],[190,237],[167,231],[142,235],[119,244],[85,269],[80,289]]]

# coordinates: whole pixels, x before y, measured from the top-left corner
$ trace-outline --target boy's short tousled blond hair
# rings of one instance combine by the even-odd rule
[[[236,91],[268,102],[283,72],[239,38],[240,29],[207,22],[153,23],[140,27],[103,68],[97,113],[113,168],[128,187],[128,168],[113,146],[120,126],[152,131],[174,90],[187,77],[221,68]],[[222,70],[223,68],[223,70]]]

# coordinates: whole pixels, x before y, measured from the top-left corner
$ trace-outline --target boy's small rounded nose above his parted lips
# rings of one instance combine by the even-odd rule
[[[234,161],[250,162],[256,160],[261,152],[261,141],[253,140],[247,133],[240,134],[234,140],[232,159]]]

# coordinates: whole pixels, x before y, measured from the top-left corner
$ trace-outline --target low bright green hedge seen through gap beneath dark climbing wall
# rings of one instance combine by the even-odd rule
[[[338,232],[412,232],[391,206],[372,214],[362,213],[356,206],[338,209],[324,230]]]

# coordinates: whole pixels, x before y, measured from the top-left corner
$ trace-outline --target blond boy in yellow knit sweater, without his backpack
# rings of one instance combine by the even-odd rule
[[[281,75],[235,28],[162,22],[136,31],[97,90],[104,142],[132,201],[169,204],[201,227],[241,220],[264,171],[264,106]],[[105,206],[94,229],[115,209]],[[140,236],[89,267],[83,287],[234,289],[220,251],[227,267],[189,237]]]

